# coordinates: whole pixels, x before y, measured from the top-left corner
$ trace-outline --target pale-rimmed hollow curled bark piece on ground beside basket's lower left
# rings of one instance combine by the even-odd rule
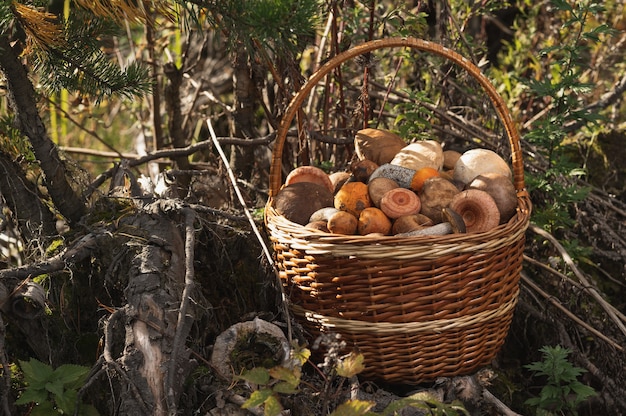
[[[287,365],[289,360],[289,342],[283,331],[259,318],[236,323],[222,332],[211,355],[215,370],[229,381],[244,368]]]

